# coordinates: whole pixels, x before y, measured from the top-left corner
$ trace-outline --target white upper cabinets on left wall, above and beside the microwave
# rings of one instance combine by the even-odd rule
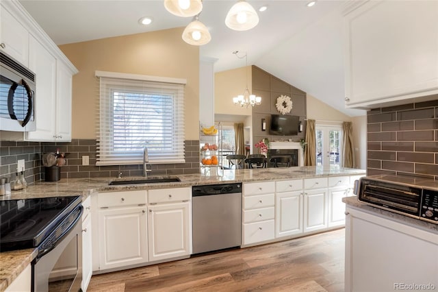
[[[36,73],[36,131],[26,141],[71,141],[72,77],[78,71],[18,1],[1,1],[0,49]]]

